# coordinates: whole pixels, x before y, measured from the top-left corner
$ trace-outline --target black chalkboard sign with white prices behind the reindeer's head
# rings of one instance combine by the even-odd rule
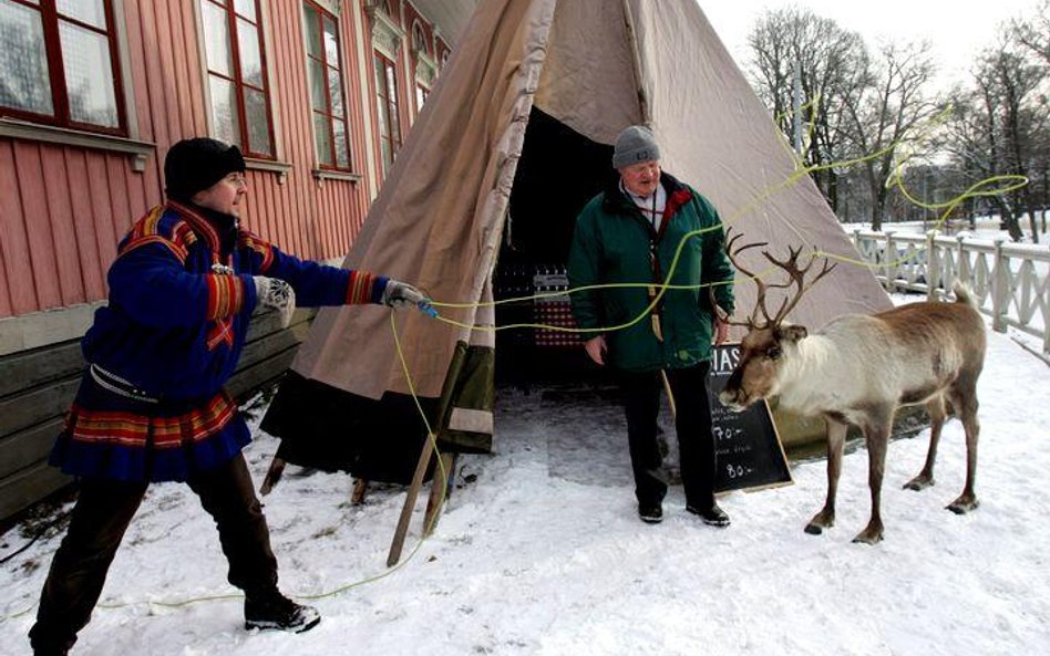
[[[721,344],[711,354],[708,399],[718,454],[714,491],[769,488],[793,482],[769,405],[761,400],[742,413],[718,399],[740,360],[739,344]]]

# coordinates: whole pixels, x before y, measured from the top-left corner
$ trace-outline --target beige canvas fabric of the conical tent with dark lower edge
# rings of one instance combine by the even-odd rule
[[[383,451],[394,466],[361,473],[406,480],[425,436],[408,403],[412,389],[443,435],[480,437],[464,448],[487,448],[495,344],[487,303],[515,180],[523,177],[518,164],[529,159],[529,148],[570,158],[550,136],[557,131],[544,133],[542,148],[527,146],[526,134],[539,132],[529,129],[537,116],[599,148],[624,127],[647,123],[665,169],[700,189],[748,241],[766,241],[778,254],[791,244],[859,259],[815,185],[794,175],[790,149],[696,0],[486,0],[344,262],[463,304],[439,308],[457,325],[414,312],[395,316],[410,389],[389,311],[321,310],[262,424],[281,437],[279,456],[354,471]],[[588,184],[611,173],[606,164]],[[557,194],[547,201],[552,216],[573,216],[557,202]],[[541,225],[544,217],[513,220]],[[565,228],[550,233],[570,233]],[[745,256],[754,270],[768,269],[758,253]],[[737,303],[753,305],[750,282],[738,280]],[[791,319],[817,326],[889,306],[871,271],[845,264]]]

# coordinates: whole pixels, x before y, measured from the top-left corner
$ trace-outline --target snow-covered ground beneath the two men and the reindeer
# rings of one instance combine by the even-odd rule
[[[461,458],[446,512],[423,542],[421,501],[408,558],[392,572],[383,563],[401,488],[354,507],[348,476],[289,471],[265,499],[284,590],[323,615],[302,635],[241,628],[210,519],[185,486],[157,485],[73,654],[1048,654],[1048,383],[1043,362],[989,333],[981,507],[962,517],[944,509],[962,487],[958,421],[924,492],[902,485],[922,467],[927,434],[897,440],[883,490],[886,539],[874,546],[851,543],[868,514],[863,449],[845,458],[838,523],[824,535],[802,531],[823,502],[823,461],[795,464],[792,486],[725,496],[728,530],[687,514],[680,487],[663,523],[647,525],[608,395],[572,384],[502,391],[495,452]],[[257,481],[276,447],[257,431],[247,449]],[[0,565],[4,655],[29,652],[60,537]],[[25,541],[19,529],[0,538],[0,556]]]

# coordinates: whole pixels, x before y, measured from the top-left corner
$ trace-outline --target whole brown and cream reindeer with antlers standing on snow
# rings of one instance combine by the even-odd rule
[[[778,260],[763,250],[789,281],[766,284],[738,261],[738,256],[766,243],[734,248],[741,235],[727,243],[737,270],[758,285],[758,299],[751,317],[737,322],[748,327],[740,346],[740,361],[719,394],[719,400],[733,410],[754,402],[779,396],[781,406],[804,416],[823,417],[827,424],[827,499],[824,508],[805,527],[820,534],[835,523],[835,492],[842,471],[842,451],[850,425],[864,435],[868,452],[868,486],[872,514],[867,527],[854,542],[874,544],[883,539],[879,497],[886,461],[886,448],[894,414],[907,405],[925,404],[930,418],[929,450],[922,472],[905,488],[922,490],[934,485],[937,442],[947,416],[946,403],[961,418],[966,430],[966,485],[948,509],[962,514],[978,507],[974,492],[977,469],[977,377],[985,360],[985,324],[970,293],[958,282],[955,303],[914,303],[873,315],[846,314],[809,334],[801,325],[785,322],[802,295],[834,269],[823,258],[823,269],[805,280],[817,260],[811,253],[805,267],[799,265],[801,248],[789,247]],[[775,314],[766,309],[769,289],[783,289],[785,296]],[[761,312],[762,316],[759,317]]]

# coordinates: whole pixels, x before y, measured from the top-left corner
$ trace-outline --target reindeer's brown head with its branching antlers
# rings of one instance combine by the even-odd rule
[[[731,230],[727,232],[727,236],[730,232]],[[797,350],[799,342],[806,336],[805,326],[792,325],[786,323],[784,319],[794,310],[803,294],[817,280],[827,275],[835,268],[835,264],[828,263],[827,259],[824,258],[821,271],[806,281],[806,273],[817,259],[815,253],[810,254],[810,261],[805,267],[800,267],[801,247],[797,249],[789,247],[787,257],[783,260],[778,260],[769,251],[763,250],[762,256],[766,260],[787,273],[787,280],[784,282],[766,283],[760,275],[741,265],[738,256],[748,249],[768,246],[768,242],[737,246],[741,237],[740,233],[730,237],[725,244],[725,251],[737,271],[750,278],[758,285],[758,296],[754,310],[752,310],[748,320],[734,321],[725,316],[724,313],[720,316],[722,321],[748,329],[748,334],[740,343],[740,361],[730,375],[725,388],[718,395],[722,405],[734,412],[740,412],[759,399],[778,394],[781,372],[785,366],[790,366],[791,356]],[[780,309],[774,314],[770,314],[765,304],[765,294],[770,289],[789,290]],[[716,309],[718,309],[718,305],[716,305]]]

